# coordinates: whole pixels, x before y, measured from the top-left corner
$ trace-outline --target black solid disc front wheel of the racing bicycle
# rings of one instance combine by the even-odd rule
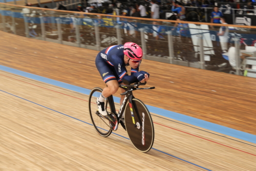
[[[153,120],[150,112],[142,101],[134,98],[132,102],[136,126],[133,123],[129,103],[127,103],[124,119],[126,131],[135,148],[137,148],[140,152],[146,153],[150,151],[154,143],[155,131]]]

